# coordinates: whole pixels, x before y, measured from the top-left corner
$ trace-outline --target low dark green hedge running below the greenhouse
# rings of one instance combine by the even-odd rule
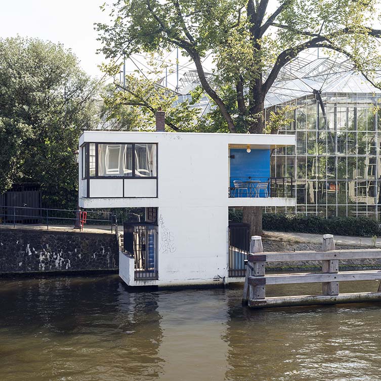
[[[241,222],[242,210],[229,209],[229,220]],[[280,232],[298,232],[315,234],[335,234],[360,237],[381,235],[376,220],[367,217],[332,217],[291,215],[291,214],[263,214],[263,230]]]

